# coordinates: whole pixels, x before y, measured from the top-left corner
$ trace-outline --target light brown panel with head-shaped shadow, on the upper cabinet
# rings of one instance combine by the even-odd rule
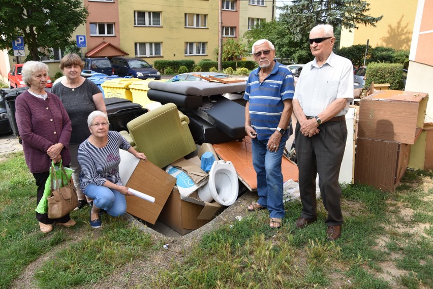
[[[418,103],[362,99],[359,108],[358,137],[415,143]]]

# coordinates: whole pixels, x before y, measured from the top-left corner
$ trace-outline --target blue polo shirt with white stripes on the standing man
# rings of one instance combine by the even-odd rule
[[[272,72],[260,83],[260,67],[251,72],[246,83],[244,99],[250,102],[251,126],[257,132],[259,140],[267,140],[275,132],[281,115],[283,114],[283,101],[293,99],[294,80],[290,69],[275,61]],[[282,141],[289,137],[289,128]]]

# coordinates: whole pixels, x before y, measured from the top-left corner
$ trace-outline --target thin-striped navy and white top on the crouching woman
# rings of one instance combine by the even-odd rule
[[[118,132],[108,131],[108,143],[105,147],[96,147],[88,139],[78,147],[78,162],[81,166],[80,188],[92,183],[102,186],[106,180],[122,185],[119,175],[119,148],[131,147]]]

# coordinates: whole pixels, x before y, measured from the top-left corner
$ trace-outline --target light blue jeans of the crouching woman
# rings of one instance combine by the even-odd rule
[[[110,216],[119,217],[126,213],[126,199],[115,189],[105,186],[88,184],[84,194],[93,199],[93,205],[105,210]]]

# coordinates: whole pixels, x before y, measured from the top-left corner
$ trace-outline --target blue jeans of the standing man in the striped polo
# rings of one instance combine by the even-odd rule
[[[257,203],[268,208],[271,218],[283,219],[283,173],[281,162],[286,142],[280,142],[277,151],[267,149],[268,140],[251,139],[253,166],[257,174]]]

